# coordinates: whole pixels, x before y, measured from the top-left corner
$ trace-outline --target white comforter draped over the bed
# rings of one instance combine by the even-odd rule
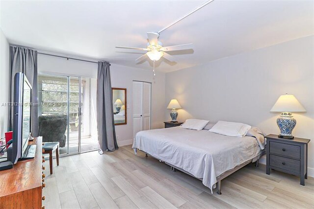
[[[142,150],[203,179],[212,192],[216,177],[259,156],[257,140],[252,136],[231,137],[174,127],[140,131],[132,148],[135,153],[136,149]]]

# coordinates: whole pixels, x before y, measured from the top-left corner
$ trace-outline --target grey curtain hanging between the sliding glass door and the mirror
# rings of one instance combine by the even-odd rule
[[[97,73],[97,129],[100,154],[118,149],[114,129],[112,90],[109,62],[98,62]]]

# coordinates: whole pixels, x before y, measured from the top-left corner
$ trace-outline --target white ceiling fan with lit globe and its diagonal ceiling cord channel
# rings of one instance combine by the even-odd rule
[[[169,28],[170,26],[175,25],[176,23],[178,23],[179,21],[183,20],[187,16],[193,14],[197,10],[203,8],[204,6],[206,6],[207,4],[209,4],[212,1],[214,1],[214,0],[207,0],[205,3],[201,4],[200,6],[198,6],[197,8],[195,8],[194,10],[192,10],[191,12],[189,12],[188,14],[183,16],[182,18],[180,18],[177,21],[173,22],[172,24],[164,27],[163,29],[159,30],[158,32],[147,32],[148,43],[147,43],[147,47],[146,48],[120,47],[120,46],[117,46],[116,48],[146,51],[145,54],[143,54],[142,56],[138,57],[135,61],[138,63],[138,62],[141,62],[141,61],[145,60],[146,58],[149,58],[150,60],[152,60],[153,61],[153,72],[154,72],[154,76],[155,76],[155,74],[156,74],[155,62],[156,61],[158,61],[161,57],[163,57],[163,58],[165,58],[165,59],[167,59],[169,61],[174,61],[175,60],[174,57],[172,55],[170,55],[169,53],[167,53],[167,52],[179,51],[179,50],[188,50],[188,49],[192,49],[193,48],[193,44],[182,44],[182,45],[175,45],[175,46],[164,47],[162,45],[162,43],[160,41],[158,41],[159,34],[162,31],[164,31],[165,29]]]

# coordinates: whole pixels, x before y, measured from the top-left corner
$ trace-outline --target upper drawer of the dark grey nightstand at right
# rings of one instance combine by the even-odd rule
[[[300,146],[297,145],[270,141],[269,152],[272,154],[300,159]]]

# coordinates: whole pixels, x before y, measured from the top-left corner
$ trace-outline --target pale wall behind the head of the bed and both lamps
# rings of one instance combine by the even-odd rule
[[[308,166],[314,176],[313,60],[314,36],[308,36],[167,73],[166,103],[178,99],[178,121],[243,122],[277,134],[279,113],[269,110],[280,95],[293,94],[307,110],[294,113],[293,135],[312,139]],[[169,111],[165,117],[170,120]]]

